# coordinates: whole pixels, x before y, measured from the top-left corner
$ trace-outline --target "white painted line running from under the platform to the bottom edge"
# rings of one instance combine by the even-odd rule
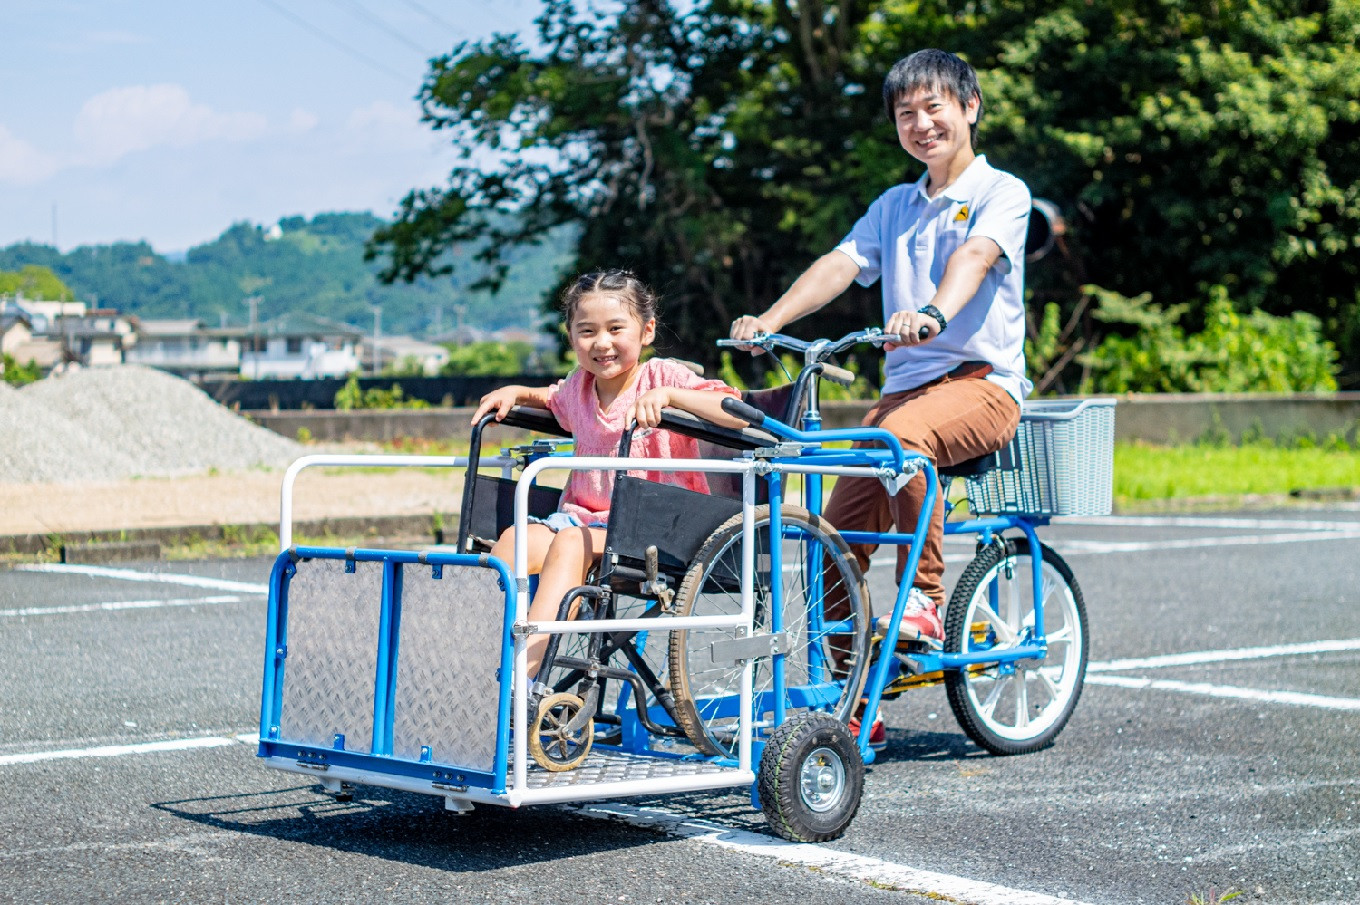
[[[577,814],[602,819],[623,821],[632,826],[657,829],[668,836],[677,836],[704,845],[717,845],[729,852],[753,855],[756,857],[793,864],[817,871],[873,883],[879,889],[892,889],[926,898],[947,902],[970,902],[970,905],[1080,905],[1077,900],[1030,893],[1025,890],[971,881],[966,876],[922,871],[906,864],[895,864],[877,857],[850,855],[820,845],[785,842],[782,840],[747,833],[744,830],[711,823],[709,821],[672,814],[661,808],[632,807],[630,804],[604,803],[564,806]]]

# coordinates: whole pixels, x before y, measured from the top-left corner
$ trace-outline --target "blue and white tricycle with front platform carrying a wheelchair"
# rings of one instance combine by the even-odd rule
[[[747,787],[778,836],[826,841],[858,810],[884,698],[942,682],[987,751],[1051,744],[1081,694],[1087,614],[1038,529],[1110,510],[1114,403],[1027,403],[1000,453],[937,470],[888,431],[821,425],[820,381],[853,380],[835,357],[891,339],[748,340],[797,351],[802,367],[786,386],[726,400],[740,430],[665,412],[665,429],[700,441],[698,459],[630,459],[627,431],[620,455],[575,456],[551,414],[529,408],[473,426],[468,456],[299,459],[283,480],[269,580],[260,757],[336,795],[407,789],[456,812]],[[486,456],[492,426],[530,440]],[[461,470],[456,542],[294,544],[294,483],[318,465]],[[616,472],[604,555],[555,621],[530,623],[524,527],[559,494],[540,478],[589,468]],[[710,493],[641,471],[703,472]],[[836,531],[820,514],[823,483],[851,475],[889,494],[926,482],[918,524]],[[956,478],[966,497],[949,498]],[[942,645],[889,641],[911,582],[879,631],[849,544],[907,546],[910,577],[937,494],[945,533],[975,536],[976,555],[945,608]],[[505,562],[488,551],[510,525]],[[551,640],[529,676],[534,634]]]

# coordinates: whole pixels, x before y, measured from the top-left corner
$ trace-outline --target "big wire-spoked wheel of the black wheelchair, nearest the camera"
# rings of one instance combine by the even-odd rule
[[[849,546],[828,521],[798,506],[783,506],[782,553],[785,705],[787,716],[821,710],[845,723],[864,689],[869,665],[869,591]],[[755,509],[755,631],[771,630],[770,506]],[[836,604],[835,602],[842,603]],[[683,616],[741,612],[741,516],[722,524],[704,543],[680,582]],[[704,754],[736,757],[740,742],[743,661],[724,652],[737,629],[670,633],[670,691],[676,717]],[[772,659],[753,671],[753,720],[768,729],[774,716]]]

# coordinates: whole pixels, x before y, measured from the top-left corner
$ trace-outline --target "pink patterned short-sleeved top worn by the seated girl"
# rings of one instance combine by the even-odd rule
[[[571,431],[577,456],[617,456],[628,408],[638,396],[657,386],[706,389],[741,399],[740,392],[721,380],[704,380],[669,358],[653,358],[642,363],[636,382],[620,393],[608,410],[600,408],[594,392],[594,374],[577,369],[552,385],[548,411],[556,416],[559,425]],[[699,445],[692,437],[669,430],[639,429],[632,433],[630,455],[647,459],[694,459],[699,455]],[[630,471],[628,474],[709,493],[709,482],[700,472]],[[607,524],[613,475],[613,471],[573,471],[562,493],[559,510],[577,516],[588,525]]]

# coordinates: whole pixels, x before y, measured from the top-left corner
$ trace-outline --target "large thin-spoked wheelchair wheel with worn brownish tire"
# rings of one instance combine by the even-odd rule
[[[798,528],[808,535],[808,539],[785,546],[785,550],[797,551],[801,563],[806,567],[809,557],[821,559],[830,558],[835,573],[839,574],[838,584],[846,588],[849,603],[849,619],[853,630],[842,634],[826,634],[821,638],[808,637],[808,591],[805,581],[797,578],[786,581],[785,608],[789,614],[785,619],[785,631],[790,634],[793,649],[785,656],[786,687],[808,686],[809,652],[813,645],[820,645],[817,656],[821,661],[836,663],[836,678],[827,683],[830,694],[835,698],[819,710],[831,713],[845,723],[854,713],[864,690],[869,667],[869,589],[860,572],[850,547],[840,538],[831,523],[819,516],[813,516],[806,509],[798,506],[782,508],[783,524]],[[760,544],[756,550],[756,633],[770,630],[768,610],[762,607],[762,588],[770,587],[768,557],[768,524],[770,506],[756,506],[755,513],[756,538]],[[740,612],[740,554],[741,554],[741,516],[733,516],[713,532],[704,542],[690,570],[685,573],[680,588],[676,592],[676,612],[681,616],[690,615],[717,615]],[[766,565],[762,570],[760,562]],[[796,573],[801,574],[801,569]],[[793,585],[790,588],[790,585]],[[823,599],[826,596],[823,591]],[[767,597],[767,592],[766,596]],[[821,600],[816,602],[820,606]],[[730,712],[717,716],[717,706],[728,697],[740,693],[740,664],[714,665],[711,656],[704,657],[707,645],[714,640],[736,637],[733,629],[713,630],[680,630],[670,633],[668,651],[668,668],[670,693],[675,695],[676,721],[684,729],[691,743],[704,754],[718,757],[736,757],[738,734],[736,731],[736,716]],[[832,641],[839,646],[831,648]],[[756,661],[753,690],[760,694],[772,683],[771,660]],[[832,687],[834,686],[834,687]],[[730,710],[730,708],[728,708]],[[796,713],[790,709],[789,714]],[[762,719],[763,714],[756,714]],[[786,717],[787,719],[787,717]]]

